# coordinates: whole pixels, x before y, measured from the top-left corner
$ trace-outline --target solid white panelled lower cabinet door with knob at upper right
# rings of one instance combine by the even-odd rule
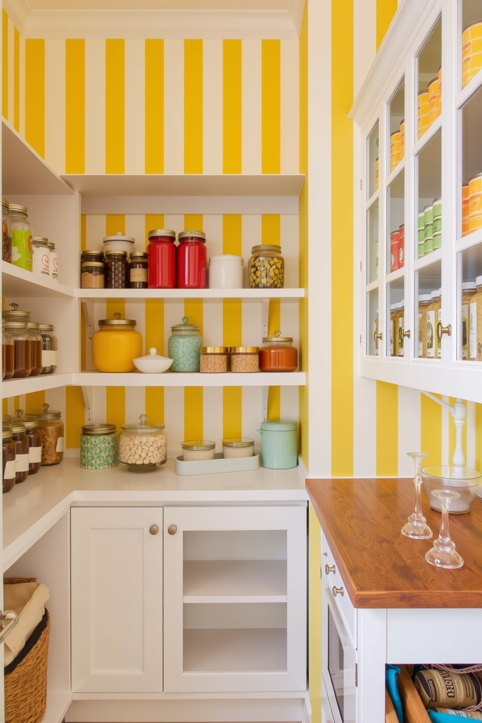
[[[71,515],[73,692],[160,692],[162,508]]]

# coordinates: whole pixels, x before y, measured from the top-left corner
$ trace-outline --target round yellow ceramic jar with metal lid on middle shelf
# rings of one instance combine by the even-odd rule
[[[92,361],[99,372],[134,372],[132,359],[142,356],[142,335],[134,319],[100,319],[92,334]]]

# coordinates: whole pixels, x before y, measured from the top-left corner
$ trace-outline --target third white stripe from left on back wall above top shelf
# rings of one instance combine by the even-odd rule
[[[145,40],[126,40],[124,147],[125,173],[145,170]]]

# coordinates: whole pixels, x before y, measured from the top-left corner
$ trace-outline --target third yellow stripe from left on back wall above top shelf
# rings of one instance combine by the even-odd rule
[[[106,174],[124,173],[124,40],[106,40]]]

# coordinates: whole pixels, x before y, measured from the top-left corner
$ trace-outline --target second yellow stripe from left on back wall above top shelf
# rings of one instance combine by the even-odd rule
[[[85,40],[65,41],[65,172],[85,173]]]

